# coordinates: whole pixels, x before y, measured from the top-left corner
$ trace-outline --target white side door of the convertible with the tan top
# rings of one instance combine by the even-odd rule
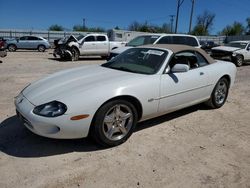
[[[183,56],[191,55],[194,60],[189,64],[190,70],[187,72],[171,71],[175,64],[184,62],[170,62],[170,71],[161,76],[159,112],[166,113],[181,109],[183,107],[198,103],[209,96],[209,74],[206,68],[207,62],[197,57],[196,53],[185,52]],[[200,55],[200,54],[199,54]],[[175,56],[176,57],[176,56]],[[173,57],[172,60],[175,58]],[[202,57],[201,57],[202,58]],[[195,60],[196,59],[196,60]],[[203,61],[203,62],[201,62]],[[189,62],[190,63],[190,62]]]

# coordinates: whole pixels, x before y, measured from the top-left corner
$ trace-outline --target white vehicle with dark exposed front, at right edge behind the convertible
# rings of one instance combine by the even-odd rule
[[[232,41],[225,46],[212,48],[211,56],[233,62],[237,67],[250,61],[250,41]]]

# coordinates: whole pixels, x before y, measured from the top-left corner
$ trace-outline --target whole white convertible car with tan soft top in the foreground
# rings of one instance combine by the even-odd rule
[[[235,80],[232,63],[182,45],[131,48],[102,65],[36,81],[15,98],[18,117],[35,134],[115,146],[138,121],[197,103],[221,107]]]

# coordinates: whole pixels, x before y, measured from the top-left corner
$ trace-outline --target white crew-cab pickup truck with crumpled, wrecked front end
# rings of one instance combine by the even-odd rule
[[[106,59],[110,51],[125,46],[126,42],[109,41],[105,34],[73,35],[55,40],[54,57],[77,61],[80,56],[101,56]]]

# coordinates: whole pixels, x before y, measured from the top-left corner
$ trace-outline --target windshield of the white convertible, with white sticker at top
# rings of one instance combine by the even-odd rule
[[[139,74],[155,74],[168,52],[154,48],[131,48],[102,64],[103,67]]]

